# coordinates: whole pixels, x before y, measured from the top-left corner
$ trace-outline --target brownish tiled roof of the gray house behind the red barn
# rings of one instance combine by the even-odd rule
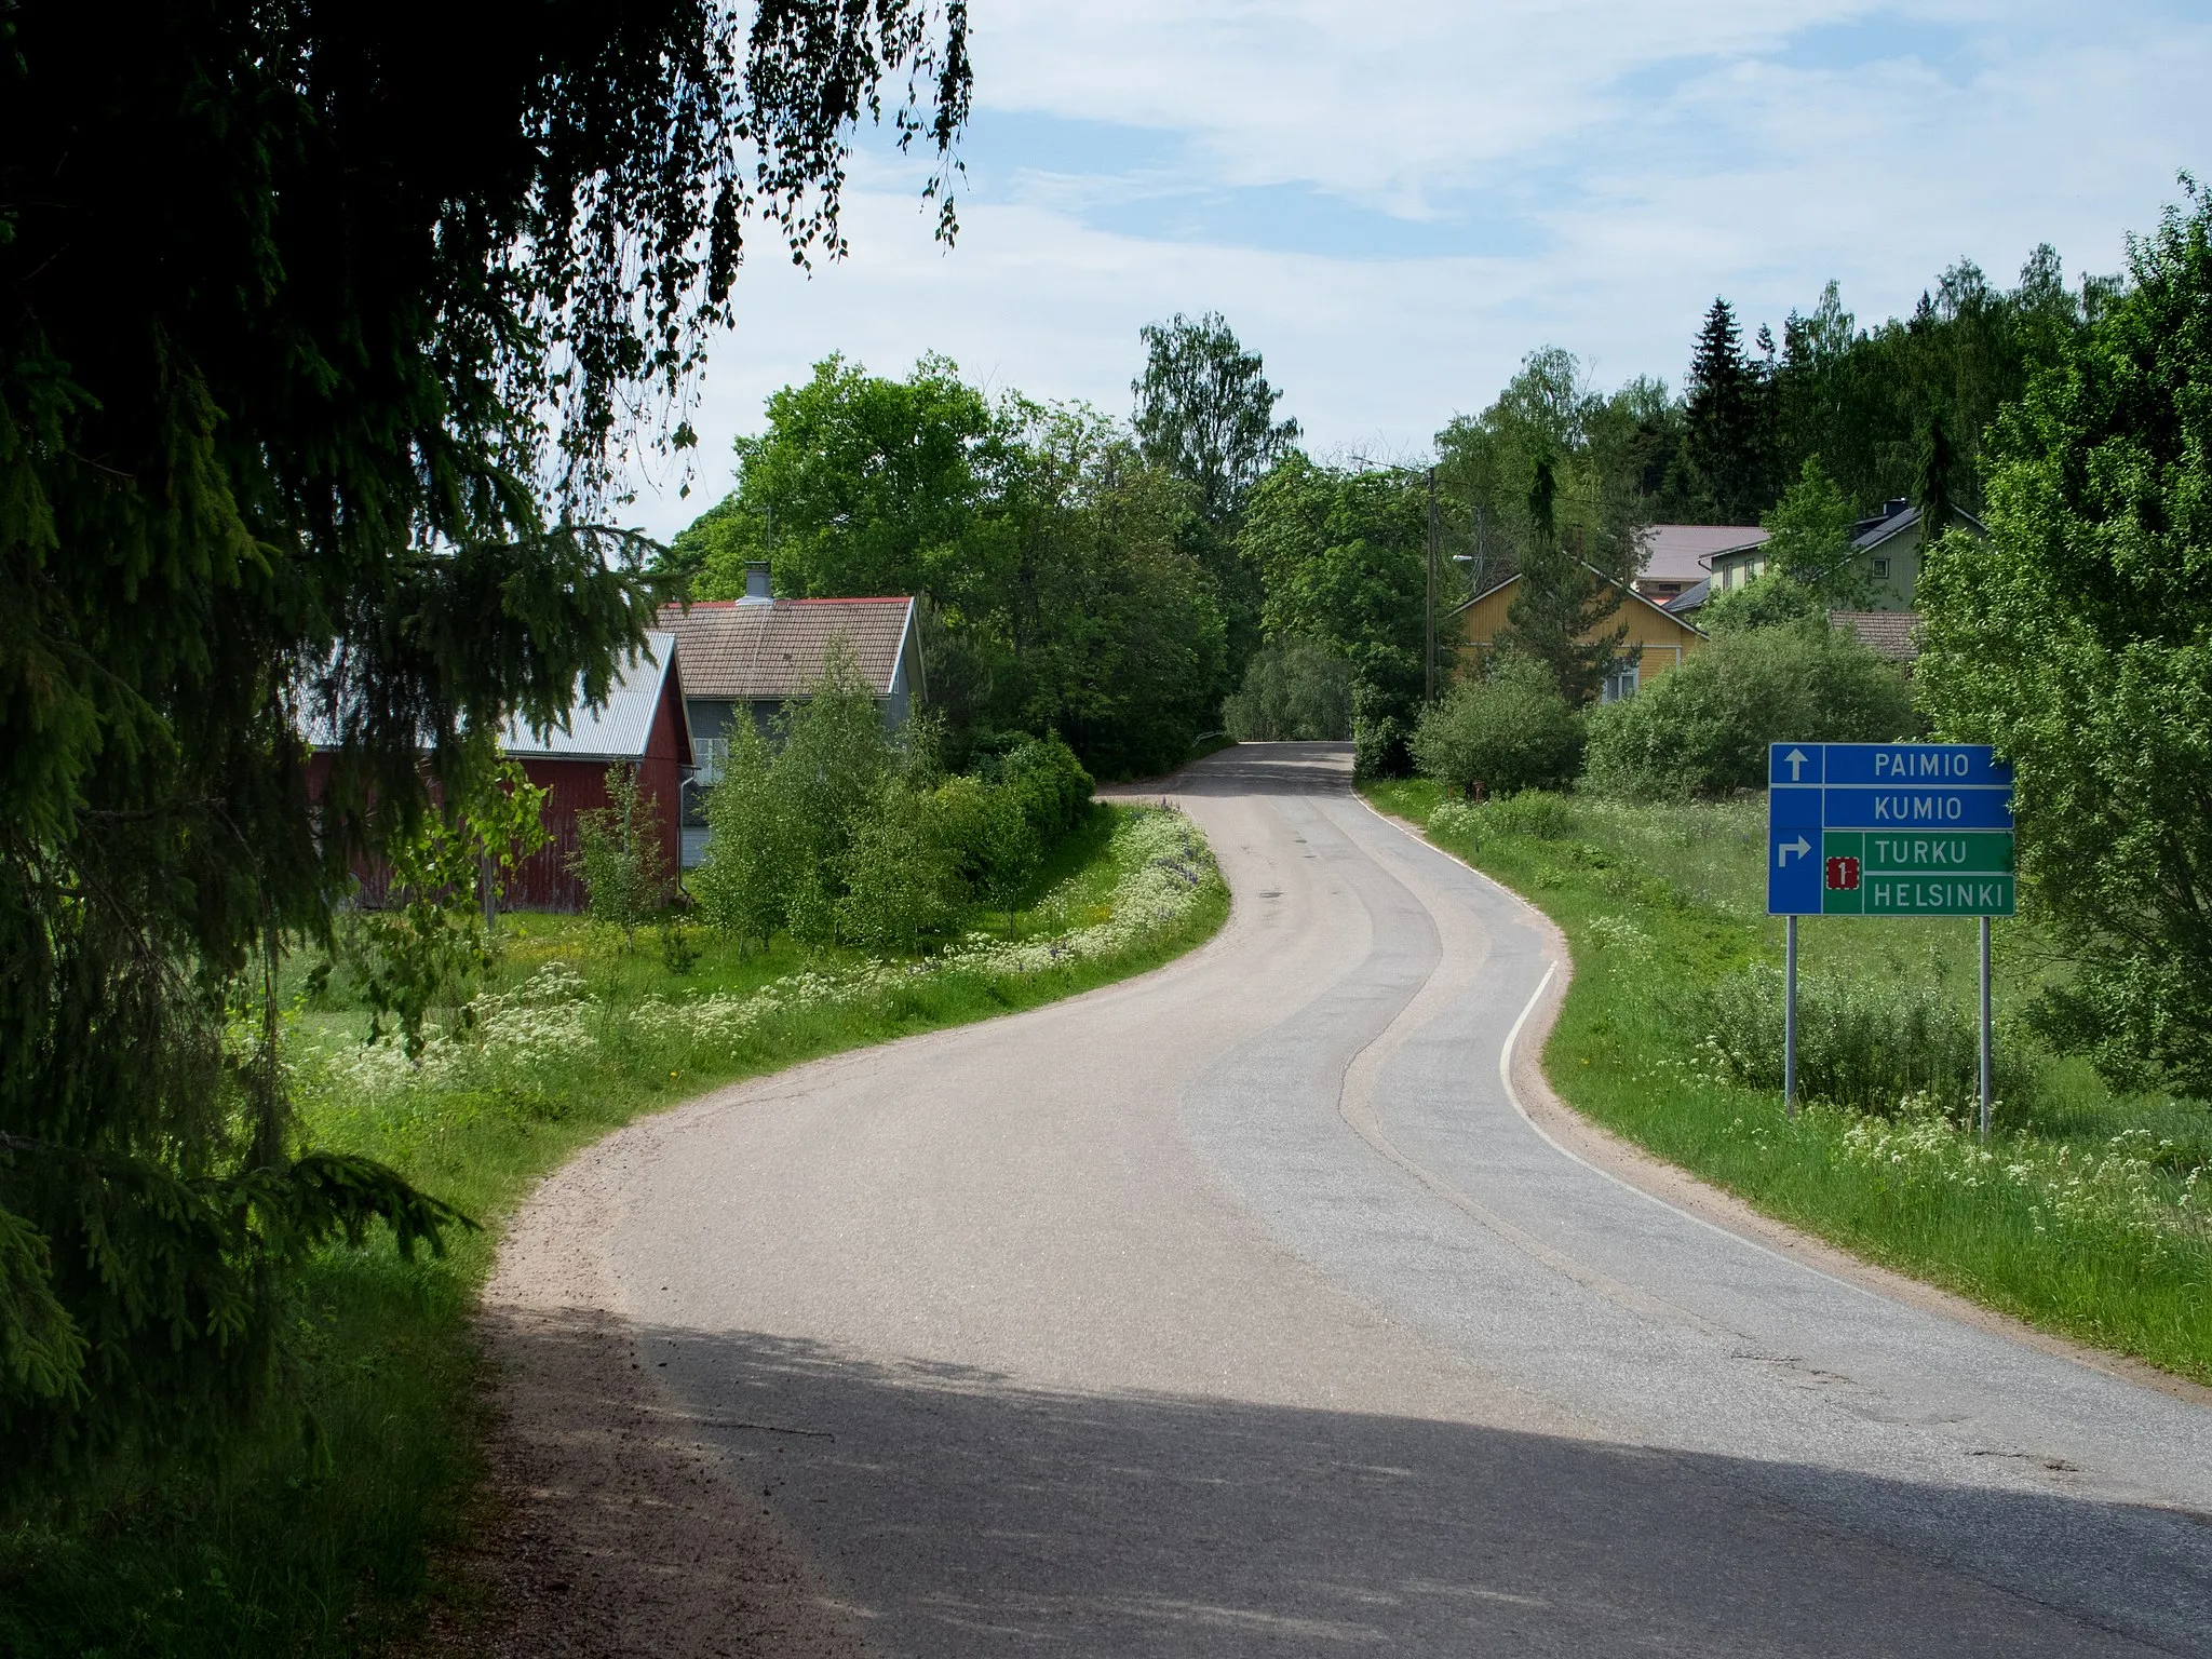
[[[781,701],[814,688],[838,635],[852,641],[860,677],[887,697],[911,624],[914,599],[703,599],[688,611],[661,606],[661,626],[684,650],[686,695],[732,701]]]

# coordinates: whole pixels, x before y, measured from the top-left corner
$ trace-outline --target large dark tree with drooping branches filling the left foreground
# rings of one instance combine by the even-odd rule
[[[276,958],[482,734],[606,697],[653,604],[588,526],[748,219],[841,248],[854,119],[911,75],[945,161],[969,69],[905,0],[0,29],[7,1478],[248,1409],[319,1239],[449,1219],[299,1144]]]

